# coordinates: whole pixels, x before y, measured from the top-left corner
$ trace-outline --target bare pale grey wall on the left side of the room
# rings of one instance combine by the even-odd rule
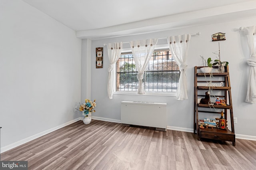
[[[28,4],[1,0],[1,147],[80,117],[81,42]]]

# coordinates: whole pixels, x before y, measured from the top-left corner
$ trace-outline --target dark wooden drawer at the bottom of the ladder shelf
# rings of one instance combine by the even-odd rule
[[[209,132],[209,131],[200,131],[200,138],[208,138],[215,140],[226,140],[226,141],[235,141],[235,134],[225,134],[218,132]]]

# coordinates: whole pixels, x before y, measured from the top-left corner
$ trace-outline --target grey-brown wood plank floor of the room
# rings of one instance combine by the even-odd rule
[[[30,170],[255,170],[256,141],[196,140],[196,134],[78,121],[1,154]]]

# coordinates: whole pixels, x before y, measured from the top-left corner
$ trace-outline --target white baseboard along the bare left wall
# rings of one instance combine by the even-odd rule
[[[27,138],[24,138],[24,139],[22,139],[22,140],[19,140],[18,142],[14,142],[14,143],[12,143],[12,144],[9,144],[9,145],[7,145],[7,146],[4,146],[4,147],[0,148],[0,153],[6,152],[7,150],[13,149],[13,148],[15,148],[15,147],[17,147],[17,146],[20,146],[20,145],[22,145],[22,144],[24,144],[24,143],[26,143],[26,142],[30,142],[31,140],[34,140],[34,139],[39,138],[39,137],[41,137],[41,136],[44,136],[44,135],[46,135],[46,134],[48,134],[48,133],[50,133],[50,132],[53,132],[53,131],[58,130],[58,129],[63,128],[63,127],[66,127],[66,126],[68,126],[68,125],[70,125],[70,124],[72,124],[72,123],[75,123],[75,122],[77,122],[77,121],[80,121],[80,120],[81,120],[80,118],[74,119],[74,120],[72,120],[72,121],[63,123],[62,125],[59,125],[59,126],[57,126],[57,127],[50,128],[50,129],[45,130],[45,131],[43,131],[43,132],[40,132],[40,133],[38,133],[38,134],[34,134],[33,136],[29,136],[29,137],[27,137]]]

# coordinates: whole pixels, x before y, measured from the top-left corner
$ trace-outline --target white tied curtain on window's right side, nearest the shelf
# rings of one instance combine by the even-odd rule
[[[174,60],[180,67],[180,79],[177,88],[176,99],[188,99],[187,78],[186,78],[186,58],[188,55],[188,45],[191,35],[184,34],[182,36],[167,37],[167,42]]]

